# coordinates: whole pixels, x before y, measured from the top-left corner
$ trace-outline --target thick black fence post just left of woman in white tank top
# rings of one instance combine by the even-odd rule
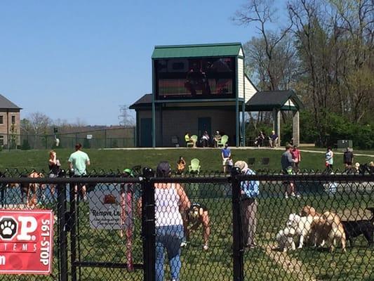
[[[145,181],[142,182],[142,240],[144,280],[154,281],[156,279],[154,184],[150,181],[150,178],[154,176],[154,171],[149,168],[144,168],[143,176],[145,177]]]

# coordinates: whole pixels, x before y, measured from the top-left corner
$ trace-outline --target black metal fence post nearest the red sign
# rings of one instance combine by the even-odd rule
[[[65,178],[64,170],[58,174]],[[66,232],[66,184],[57,185],[57,213],[58,213],[58,246],[60,263],[60,281],[67,281],[67,232]]]

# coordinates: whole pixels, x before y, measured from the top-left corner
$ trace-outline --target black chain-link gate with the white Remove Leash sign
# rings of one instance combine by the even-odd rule
[[[67,196],[70,240],[65,253],[72,281],[143,280],[141,218],[136,214],[141,185],[72,183]]]

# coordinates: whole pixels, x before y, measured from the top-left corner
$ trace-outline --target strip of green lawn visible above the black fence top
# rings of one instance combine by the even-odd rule
[[[155,167],[161,160],[167,160],[176,168],[176,162],[181,155],[185,157],[187,164],[192,158],[198,158],[201,161],[203,171],[221,171],[222,159],[219,149],[185,149],[178,150],[84,150],[91,158],[92,169],[116,170],[124,169],[135,165]],[[67,169],[67,159],[72,150],[57,150],[58,158],[62,167]],[[249,157],[256,159],[254,169],[261,169],[260,164],[262,157],[269,157],[270,162],[267,168],[280,170],[281,154],[283,150],[240,150],[232,148],[232,157],[236,160],[247,160]],[[372,153],[373,154],[373,153]],[[335,155],[335,168],[343,169],[342,155]],[[366,163],[373,161],[370,157],[355,157],[355,162]],[[301,169],[325,169],[324,155],[321,153],[302,152]],[[48,170],[48,150],[27,150],[27,151],[3,151],[0,152],[0,170],[4,169],[37,169]]]

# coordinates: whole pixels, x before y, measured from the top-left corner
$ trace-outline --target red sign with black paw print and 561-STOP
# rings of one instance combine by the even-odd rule
[[[0,274],[50,274],[51,210],[0,210]]]

